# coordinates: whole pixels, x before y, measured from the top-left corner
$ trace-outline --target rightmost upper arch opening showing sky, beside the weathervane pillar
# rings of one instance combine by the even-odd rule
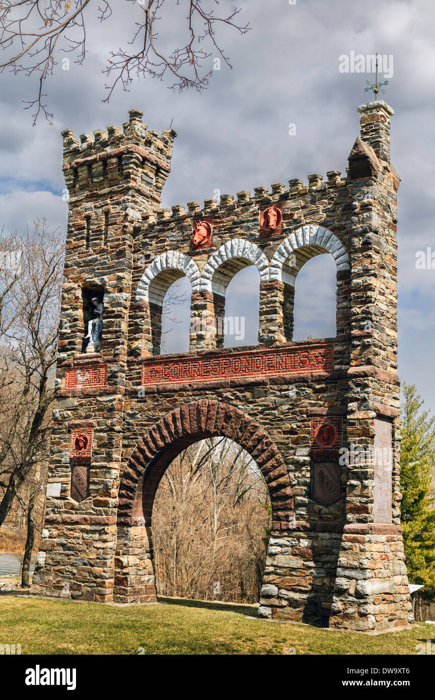
[[[301,249],[301,253],[303,253]],[[297,251],[297,258],[298,258]],[[316,253],[297,267],[292,289],[293,340],[336,336],[336,265],[329,253]]]

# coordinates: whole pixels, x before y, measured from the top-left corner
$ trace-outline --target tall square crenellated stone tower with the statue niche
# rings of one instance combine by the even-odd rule
[[[32,584],[35,594],[104,602],[113,595],[134,231],[145,212],[159,207],[175,136],[171,130],[161,137],[145,133],[142,113],[131,110],[129,116],[124,133],[108,127],[107,136],[103,130],[96,130],[94,139],[82,134],[80,144],[70,130],[62,134],[69,221],[48,498],[41,566]],[[105,211],[110,214],[106,241]],[[86,218],[92,250],[85,245]],[[104,293],[98,353],[81,353],[83,290]],[[131,316],[131,347],[141,355],[146,352],[144,342],[152,342],[151,323],[140,332]],[[149,557],[145,535],[129,533],[141,542],[136,549],[140,546]],[[122,562],[121,571],[127,566],[133,577],[147,575],[146,556]]]

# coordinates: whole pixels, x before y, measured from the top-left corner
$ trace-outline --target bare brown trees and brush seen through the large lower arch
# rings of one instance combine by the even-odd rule
[[[270,515],[266,483],[236,443],[216,437],[183,451],[152,514],[159,593],[257,602]]]

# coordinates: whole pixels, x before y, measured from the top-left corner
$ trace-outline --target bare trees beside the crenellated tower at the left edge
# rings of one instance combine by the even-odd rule
[[[1,248],[10,255],[3,256],[0,268],[0,526],[14,500],[20,500],[27,524],[31,521],[25,578],[36,493],[45,486],[64,241],[59,232],[48,230],[46,221],[37,221],[33,232],[24,238],[10,235]],[[22,497],[23,484],[28,486],[28,503]]]

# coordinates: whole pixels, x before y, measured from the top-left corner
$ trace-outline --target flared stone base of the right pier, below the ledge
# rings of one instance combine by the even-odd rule
[[[271,537],[259,617],[367,632],[413,622],[399,526],[297,527]]]

